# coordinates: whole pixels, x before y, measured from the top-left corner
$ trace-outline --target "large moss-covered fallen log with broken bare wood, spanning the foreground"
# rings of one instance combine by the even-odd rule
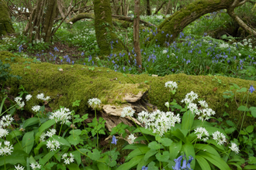
[[[113,115],[119,115],[119,108],[133,103],[133,100],[127,97],[133,97],[135,100],[138,100],[138,97],[142,97],[141,94],[147,91],[147,104],[153,104],[159,110],[166,111],[167,108],[164,106],[164,103],[168,101],[170,93],[164,87],[164,83],[175,81],[178,83],[178,89],[175,95],[171,95],[171,100],[177,100],[178,104],[184,107],[184,104],[180,101],[185,98],[186,93],[194,91],[198,93],[199,98],[206,100],[209,107],[216,111],[215,117],[222,117],[224,121],[230,120],[238,124],[243,114],[237,110],[235,100],[230,101],[223,98],[223,92],[230,90],[231,83],[236,83],[239,87],[246,87],[247,89],[251,85],[256,87],[256,81],[224,76],[216,76],[217,79],[221,80],[221,84],[219,84],[214,81],[213,76],[172,74],[163,77],[153,77],[145,74],[127,74],[130,79],[136,82],[136,84],[133,84],[130,79],[123,76],[123,73],[116,73],[104,67],[94,67],[93,70],[92,67],[88,66],[66,64],[61,65],[63,71],[59,71],[59,65],[36,62],[36,59],[23,59],[18,56],[15,56],[15,59],[11,59],[11,57],[14,57],[11,53],[0,52],[0,59],[5,63],[10,63],[12,66],[11,73],[22,76],[22,80],[12,78],[8,81],[7,85],[11,87],[11,93],[14,96],[18,95],[20,85],[25,87],[26,91],[33,94],[33,100],[29,100],[25,106],[26,110],[31,112],[31,107],[40,102],[36,100],[36,95],[38,93],[45,93],[45,95],[51,97],[49,105],[53,110],[64,106],[71,110],[74,109],[78,114],[85,114],[90,110],[88,99],[98,97],[102,100],[99,110],[105,110],[105,114],[102,117],[115,117]],[[27,69],[27,66],[30,66],[31,69]],[[146,80],[147,83],[144,83]],[[236,94],[237,103],[240,104],[245,94],[247,93]],[[75,100],[81,100],[81,103],[79,107],[73,108],[72,102]],[[226,102],[229,107],[224,106]],[[151,107],[151,105],[147,107],[147,104],[140,104],[140,106],[144,106],[147,110],[152,111],[154,107]],[[250,95],[247,107],[255,107],[255,104],[256,92]],[[140,112],[140,107],[135,105],[133,105],[133,108],[137,108],[137,112]],[[230,115],[229,117],[223,117],[225,111]],[[255,122],[255,118],[246,116],[244,126],[255,124]]]

